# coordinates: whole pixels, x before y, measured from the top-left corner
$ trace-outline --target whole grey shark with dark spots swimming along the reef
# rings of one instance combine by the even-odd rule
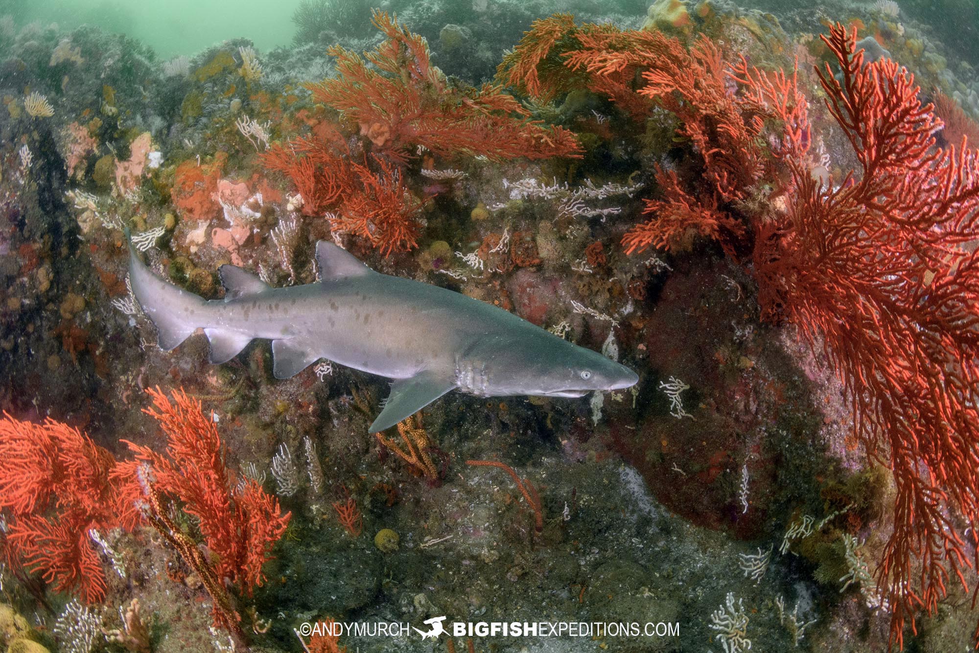
[[[325,358],[394,379],[372,433],[452,389],[484,397],[581,397],[638,381],[629,368],[495,306],[374,272],[331,242],[316,243],[316,261],[321,280],[285,288],[221,266],[224,299],[206,300],[154,275],[130,244],[129,279],[165,351],[200,327],[213,364],[266,338],[276,378]]]

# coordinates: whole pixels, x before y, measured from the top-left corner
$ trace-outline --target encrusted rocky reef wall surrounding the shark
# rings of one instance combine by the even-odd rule
[[[853,380],[824,342],[770,319],[765,262],[751,258],[754,227],[786,215],[801,185],[779,168],[788,139],[756,106],[738,142],[763,154],[739,161],[764,174],[737,185],[746,171],[718,175],[702,147],[724,128],[710,118],[694,133],[690,102],[642,95],[648,73],[629,57],[670,39],[702,63],[714,51],[697,48],[713,44],[719,105],[759,70],[787,71],[802,98],[794,115],[808,107],[812,130],[795,145],[817,188],[865,171],[825,102],[831,82],[816,75],[836,66],[819,38],[830,25],[871,39],[867,65],[894,59],[915,75],[911,99],[934,102],[944,121],[930,152],[979,134],[974,62],[894,3],[776,14],[727,0],[614,12],[582,1],[574,17],[551,17],[558,8],[542,0],[456,4],[392,1],[371,14],[307,1],[292,46],[257,52],[243,38],[168,61],[96,26],[0,21],[0,453],[64,492],[25,501],[29,475],[0,464],[8,651],[731,653],[896,641],[877,586],[900,496],[892,459],[866,451]],[[623,78],[565,66],[596,43],[623,57]],[[696,215],[666,232],[680,193]],[[156,274],[208,299],[224,296],[224,264],[273,286],[315,282],[315,243],[336,242],[375,270],[601,351],[640,380],[583,399],[450,392],[369,435],[387,379],[328,361],[276,379],[258,340],[219,366],[200,334],[162,351],[127,285],[126,232]],[[166,421],[165,397],[179,420]],[[49,418],[64,429],[52,441],[72,442],[81,463],[12,444]],[[192,482],[166,480],[194,477],[174,453],[179,437],[187,450],[211,443],[200,485],[230,506],[226,519],[200,507]],[[71,522],[86,465],[85,487],[128,503],[106,503],[98,520],[86,504]],[[948,511],[953,527],[969,523]],[[52,562],[10,534],[28,513],[89,526]],[[215,523],[232,525],[224,540]],[[928,563],[913,560],[919,572]],[[104,587],[82,596],[93,567]],[[975,575],[960,567],[963,583],[952,576],[947,595],[897,627],[904,646],[972,641]],[[435,644],[413,630],[338,641],[303,629],[423,629],[442,616],[654,628]]]

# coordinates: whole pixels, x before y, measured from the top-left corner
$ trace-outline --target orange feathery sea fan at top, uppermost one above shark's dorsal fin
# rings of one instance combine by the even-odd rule
[[[579,156],[581,145],[563,127],[547,128],[501,87],[463,91],[431,65],[428,45],[396,19],[375,11],[388,37],[360,57],[333,46],[336,77],[307,87],[313,99],[337,109],[363,136],[396,161],[425,148],[436,155],[482,155],[491,161]],[[372,66],[371,66],[372,65]]]

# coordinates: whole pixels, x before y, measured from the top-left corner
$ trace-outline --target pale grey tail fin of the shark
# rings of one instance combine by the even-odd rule
[[[208,302],[203,297],[181,290],[154,275],[139,258],[139,253],[129,239],[128,229],[125,236],[129,244],[129,283],[132,285],[132,294],[157,327],[160,348],[169,351],[187,339],[198,326],[206,324]]]

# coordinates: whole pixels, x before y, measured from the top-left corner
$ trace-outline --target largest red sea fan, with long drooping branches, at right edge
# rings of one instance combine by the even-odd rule
[[[979,152],[936,148],[912,76],[865,63],[856,31],[822,38],[841,74],[817,73],[860,171],[820,184],[790,160],[787,211],[758,229],[756,276],[764,314],[825,349],[862,444],[894,473],[877,580],[901,645],[906,621],[934,613],[949,578],[968,591],[979,564]]]

